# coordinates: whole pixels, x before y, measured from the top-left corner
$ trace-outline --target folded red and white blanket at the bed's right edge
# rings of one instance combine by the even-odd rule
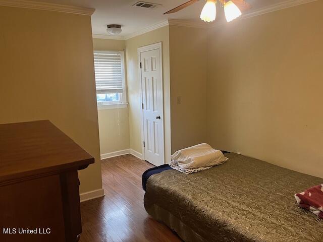
[[[295,194],[297,204],[320,218],[323,218],[323,184],[309,189],[302,193]]]

